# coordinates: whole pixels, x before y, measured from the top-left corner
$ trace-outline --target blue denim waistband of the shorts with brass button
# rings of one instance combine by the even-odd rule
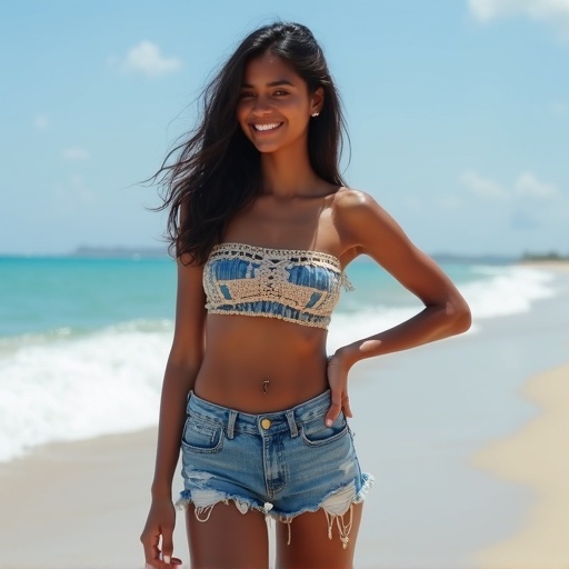
[[[212,403],[191,391],[187,411],[188,413],[197,413],[206,420],[222,423],[230,439],[233,438],[234,431],[270,436],[289,430],[291,437],[297,437],[300,425],[323,417],[330,407],[330,390],[327,390],[290,409],[252,415]]]

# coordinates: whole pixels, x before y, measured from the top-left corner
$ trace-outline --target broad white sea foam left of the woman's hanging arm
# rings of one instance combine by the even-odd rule
[[[0,460],[53,441],[156,425],[171,323],[2,341]]]

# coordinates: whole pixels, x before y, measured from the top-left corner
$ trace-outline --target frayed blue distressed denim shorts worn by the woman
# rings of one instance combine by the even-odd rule
[[[323,509],[329,537],[336,520],[346,547],[351,506],[363,500],[373,478],[360,471],[345,416],[325,425],[329,407],[330,391],[262,415],[191,393],[181,440],[184,490],[177,505],[193,503],[200,521],[217,503],[229,501],[242,513],[254,509],[287,523]]]

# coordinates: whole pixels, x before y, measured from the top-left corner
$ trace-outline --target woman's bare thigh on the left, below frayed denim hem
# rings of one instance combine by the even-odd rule
[[[241,513],[233,502],[219,502],[206,521],[199,521],[190,503],[186,527],[192,569],[269,567],[267,522],[260,511]]]

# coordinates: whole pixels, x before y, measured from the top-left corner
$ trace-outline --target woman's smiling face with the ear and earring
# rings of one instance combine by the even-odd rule
[[[322,102],[321,88],[309,93],[289,63],[267,52],[246,67],[237,120],[259,152],[293,144],[307,148],[310,116],[320,111]]]

